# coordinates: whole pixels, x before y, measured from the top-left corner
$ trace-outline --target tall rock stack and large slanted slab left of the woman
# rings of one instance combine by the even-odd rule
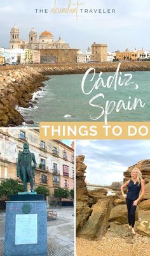
[[[110,199],[106,199],[107,190],[88,193],[84,160],[83,155],[76,157],[76,234],[78,237],[95,240],[106,234],[111,203]]]

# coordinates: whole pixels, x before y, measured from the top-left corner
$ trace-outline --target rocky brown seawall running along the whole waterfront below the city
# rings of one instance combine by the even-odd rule
[[[88,64],[38,64],[29,66],[0,67],[0,127],[18,126],[24,118],[15,109],[32,105],[32,93],[44,86],[46,75],[63,75],[85,73],[88,68],[96,72],[116,72],[118,63]],[[150,71],[150,61],[121,63],[120,71]],[[46,120],[48,121],[48,120]]]

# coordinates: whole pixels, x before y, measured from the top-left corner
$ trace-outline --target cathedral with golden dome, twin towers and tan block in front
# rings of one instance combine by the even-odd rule
[[[43,31],[38,38],[34,28],[29,32],[29,41],[20,40],[20,31],[15,25],[10,31],[10,49],[29,49],[41,52],[41,63],[76,63],[78,49],[71,49],[69,43],[65,43],[59,37],[54,40],[53,34]]]

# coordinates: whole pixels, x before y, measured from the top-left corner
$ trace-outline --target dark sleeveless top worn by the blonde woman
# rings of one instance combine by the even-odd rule
[[[137,200],[139,197],[140,189],[141,189],[141,183],[139,184],[137,182],[134,184],[132,179],[130,179],[130,182],[128,183],[128,192],[126,194],[127,195],[126,199]]]

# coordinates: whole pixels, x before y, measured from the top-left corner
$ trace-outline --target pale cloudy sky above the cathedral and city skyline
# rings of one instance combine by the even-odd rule
[[[78,13],[78,20],[74,14],[36,14],[35,8],[51,8],[55,0],[1,0],[0,22],[1,36],[0,47],[9,47],[10,29],[16,24],[20,29],[20,38],[28,40],[32,27],[38,35],[50,31],[54,40],[58,36],[69,43],[72,48],[85,52],[86,47],[93,41],[107,43],[108,50],[150,50],[150,34],[147,24],[150,23],[149,0],[79,0],[84,7],[114,8],[114,14]],[[69,0],[56,0],[57,7],[67,7]],[[71,0],[71,6],[77,0]]]

